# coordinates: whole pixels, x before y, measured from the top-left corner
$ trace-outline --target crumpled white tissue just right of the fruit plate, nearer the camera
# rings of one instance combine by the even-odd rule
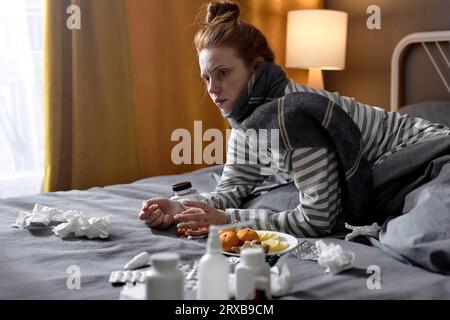
[[[319,251],[318,263],[326,267],[325,272],[337,274],[354,266],[355,254],[342,250],[340,245],[330,243],[327,245],[323,240],[316,241]]]

